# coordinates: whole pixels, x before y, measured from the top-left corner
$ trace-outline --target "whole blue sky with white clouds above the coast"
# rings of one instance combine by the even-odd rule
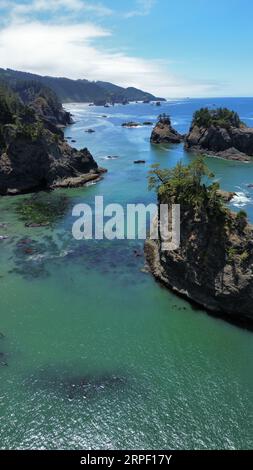
[[[253,95],[252,0],[0,0],[0,67],[166,98]]]

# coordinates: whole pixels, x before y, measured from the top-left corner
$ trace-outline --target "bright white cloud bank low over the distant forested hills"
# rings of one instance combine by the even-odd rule
[[[135,86],[165,97],[216,95],[217,84],[179,79],[169,64],[98,47],[111,33],[93,24],[12,23],[0,29],[1,67]]]

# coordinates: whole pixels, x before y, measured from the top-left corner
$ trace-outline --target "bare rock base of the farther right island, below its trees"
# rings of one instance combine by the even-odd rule
[[[228,160],[250,161],[253,157],[253,128],[218,119],[211,120],[208,125],[193,121],[185,139],[185,148]]]

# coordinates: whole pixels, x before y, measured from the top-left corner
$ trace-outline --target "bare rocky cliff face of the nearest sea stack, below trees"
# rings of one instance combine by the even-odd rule
[[[253,226],[244,214],[181,203],[181,244],[162,251],[161,238],[145,253],[153,275],[167,287],[209,311],[253,321]],[[169,227],[170,228],[170,227]]]

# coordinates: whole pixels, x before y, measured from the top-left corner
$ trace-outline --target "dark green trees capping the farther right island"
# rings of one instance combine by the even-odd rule
[[[192,125],[207,128],[210,126],[223,128],[233,126],[239,128],[243,125],[243,122],[237,113],[227,108],[218,108],[216,110],[201,108],[194,113]]]

